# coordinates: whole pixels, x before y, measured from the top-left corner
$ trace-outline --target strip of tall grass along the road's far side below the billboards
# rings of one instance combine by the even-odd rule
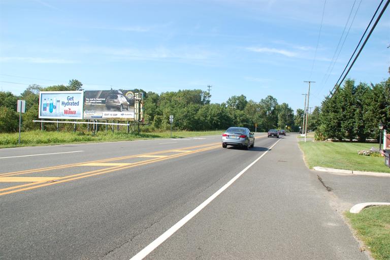
[[[187,138],[198,136],[220,135],[223,131],[203,131],[203,132],[172,132],[172,138]],[[113,141],[132,141],[152,138],[171,138],[171,132],[153,132],[153,133],[127,133],[99,131],[95,136],[92,132],[46,132],[30,131],[21,133],[21,143],[18,144],[19,134],[0,134],[0,148],[23,147],[38,145],[55,145],[69,143],[88,143],[88,142],[113,142]]]

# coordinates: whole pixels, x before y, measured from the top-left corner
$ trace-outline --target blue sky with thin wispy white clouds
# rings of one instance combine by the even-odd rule
[[[19,94],[77,79],[86,90],[161,93],[211,85],[212,103],[272,95],[296,111],[310,80],[310,107],[319,106],[379,2],[0,0],[0,87]],[[389,12],[348,75],[356,82],[389,76]]]

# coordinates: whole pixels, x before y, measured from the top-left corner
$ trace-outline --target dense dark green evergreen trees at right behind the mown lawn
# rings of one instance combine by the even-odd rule
[[[317,140],[379,139],[379,123],[390,127],[390,78],[370,85],[346,80],[312,115]]]

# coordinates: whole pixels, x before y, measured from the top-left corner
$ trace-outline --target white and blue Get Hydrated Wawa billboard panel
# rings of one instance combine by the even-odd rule
[[[83,119],[83,91],[39,92],[39,118]]]

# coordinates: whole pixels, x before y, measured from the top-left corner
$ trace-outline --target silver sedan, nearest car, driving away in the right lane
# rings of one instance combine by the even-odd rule
[[[241,146],[248,150],[254,146],[254,134],[246,127],[229,127],[222,134],[222,147],[226,148],[228,145]]]

